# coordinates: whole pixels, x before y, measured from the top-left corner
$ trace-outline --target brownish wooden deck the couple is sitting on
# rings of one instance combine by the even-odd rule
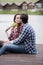
[[[43,65],[43,44],[37,45],[38,54],[5,54],[0,56],[0,65]]]

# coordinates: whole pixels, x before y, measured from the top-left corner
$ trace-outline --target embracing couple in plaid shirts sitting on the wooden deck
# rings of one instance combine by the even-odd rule
[[[2,43],[0,56],[6,52],[36,54],[35,32],[28,24],[27,14],[16,14],[8,41]],[[10,29],[10,27],[8,28]],[[6,33],[8,31],[6,29]]]

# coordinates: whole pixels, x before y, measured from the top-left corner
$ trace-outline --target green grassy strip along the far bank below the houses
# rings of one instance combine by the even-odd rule
[[[35,11],[35,12],[28,11],[28,10],[14,10],[14,11],[2,10],[0,11],[0,14],[17,14],[17,13],[27,13],[29,15],[43,15],[43,12],[41,11]]]

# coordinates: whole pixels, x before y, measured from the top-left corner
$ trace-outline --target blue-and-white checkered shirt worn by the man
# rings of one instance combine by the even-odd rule
[[[20,36],[12,40],[12,43],[17,45],[24,44],[26,53],[36,54],[35,32],[28,23],[24,24]]]

